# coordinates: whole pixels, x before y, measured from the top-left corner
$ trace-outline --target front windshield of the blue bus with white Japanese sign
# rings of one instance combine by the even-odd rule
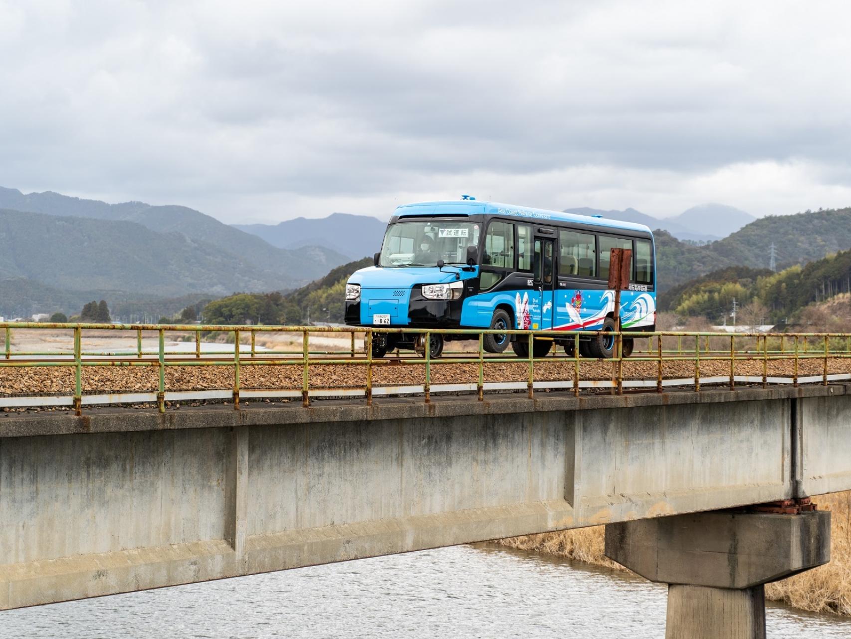
[[[479,224],[448,220],[397,222],[381,245],[382,267],[437,266],[437,260],[464,263],[467,246],[477,246]]]

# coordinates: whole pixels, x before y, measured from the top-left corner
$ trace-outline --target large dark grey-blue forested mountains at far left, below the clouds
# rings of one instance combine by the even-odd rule
[[[185,206],[0,187],[0,314],[77,312],[83,294],[130,300],[287,291],[349,261],[325,246],[272,246]]]

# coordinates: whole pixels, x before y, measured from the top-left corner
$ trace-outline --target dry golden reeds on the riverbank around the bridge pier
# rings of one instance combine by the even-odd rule
[[[821,495],[813,501],[820,510],[832,513],[831,562],[768,584],[765,596],[813,613],[851,616],[851,491]],[[625,570],[603,554],[603,531],[603,526],[579,528],[502,539],[500,544]]]

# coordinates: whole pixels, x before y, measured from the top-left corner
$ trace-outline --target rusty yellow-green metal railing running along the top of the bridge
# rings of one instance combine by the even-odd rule
[[[426,402],[431,401],[431,393],[436,389],[443,390],[446,384],[432,384],[432,371],[435,366],[443,365],[476,365],[477,376],[475,391],[478,400],[483,400],[488,384],[499,384],[486,380],[485,370],[491,364],[515,364],[523,366],[525,370],[525,389],[528,397],[534,397],[536,384],[540,388],[551,388],[554,383],[563,383],[562,389],[571,390],[574,394],[580,394],[580,388],[585,384],[586,388],[608,389],[614,394],[623,394],[625,389],[644,389],[647,391],[663,392],[665,385],[683,387],[688,383],[694,390],[700,390],[701,383],[726,383],[730,389],[734,389],[739,383],[761,383],[763,387],[768,383],[823,383],[827,384],[831,378],[851,378],[851,361],[848,366],[842,368],[838,373],[829,372],[831,360],[851,359],[851,333],[797,333],[797,334],[764,334],[764,333],[720,333],[720,332],[683,332],[683,331],[657,331],[639,332],[622,331],[609,333],[614,335],[614,356],[608,360],[596,360],[591,357],[582,356],[580,339],[585,337],[596,338],[601,334],[597,331],[478,331],[464,329],[401,329],[381,328],[369,329],[360,327],[330,327],[330,326],[248,326],[248,325],[98,325],[98,324],[48,324],[48,323],[6,323],[0,324],[0,331],[4,331],[4,356],[0,359],[0,374],[9,369],[26,369],[41,367],[73,367],[74,389],[71,397],[71,406],[80,414],[83,408],[83,399],[94,393],[83,394],[83,369],[89,367],[115,366],[115,367],[157,367],[157,391],[155,401],[160,412],[165,411],[168,392],[166,389],[168,367],[172,366],[226,366],[233,369],[232,388],[220,389],[227,393],[228,399],[233,402],[234,408],[240,407],[241,372],[248,366],[300,366],[300,389],[295,389],[300,394],[302,404],[309,406],[311,403],[311,392],[317,390],[328,390],[316,387],[311,389],[310,371],[311,366],[363,366],[365,367],[365,383],[363,386],[346,387],[340,390],[341,394],[362,394],[368,404],[372,403],[374,391],[386,389],[387,384],[374,383],[374,371],[380,366],[422,366],[424,368],[424,382],[415,384],[418,392],[421,392]],[[71,350],[13,350],[13,334],[16,331],[67,331],[72,335]],[[103,336],[116,332],[130,333],[134,336],[135,348],[117,350],[85,350],[83,349],[83,333]],[[263,348],[257,347],[257,337],[267,336],[272,333],[295,336],[294,345],[300,341],[298,349],[293,348]],[[404,333],[408,336],[422,336],[423,343],[429,344],[432,335],[441,335],[447,338],[466,338],[477,346],[475,350],[446,350],[439,358],[432,358],[430,348],[425,348],[424,356],[417,354],[395,354],[379,359],[373,356],[374,334]],[[246,335],[248,334],[248,335]],[[346,342],[346,348],[337,350],[312,349],[311,336],[337,335],[340,341]],[[484,336],[487,334],[509,334],[517,341],[526,341],[528,355],[522,358],[513,354],[488,354],[484,349]],[[144,337],[146,335],[157,337],[157,348],[146,349]],[[166,336],[183,337],[189,342],[194,342],[194,349],[180,352],[169,352],[166,348]],[[204,337],[226,336],[227,341],[234,344],[232,353],[228,348],[223,352],[204,352]],[[357,337],[363,336],[363,349],[357,348]],[[348,339],[346,339],[348,337]],[[631,357],[623,356],[624,341],[634,340],[637,346]],[[248,348],[243,351],[243,341]],[[555,341],[557,344],[573,345],[573,353],[547,354],[545,357],[534,356],[534,344],[536,341]],[[447,341],[447,344],[454,344]],[[791,366],[790,374],[780,376],[771,374],[772,362],[784,360]],[[800,375],[802,362],[808,360],[821,360],[820,374],[813,375],[812,370],[808,376]],[[595,369],[591,379],[583,379],[582,366],[588,362],[608,362],[611,366],[610,372],[603,377],[599,367]],[[759,375],[737,375],[736,366],[740,362],[758,362],[760,365]],[[536,380],[536,366],[542,363],[563,362],[563,380]],[[645,369],[641,379],[636,379],[635,374],[625,371],[625,366],[631,362],[652,363],[655,365],[655,377],[648,377],[648,369]],[[671,377],[665,374],[665,365],[677,362],[688,362],[694,365],[693,377]],[[728,362],[723,376],[715,374],[710,377],[701,377],[701,367],[712,368],[713,362]],[[812,366],[808,366],[812,369]],[[569,372],[568,372],[569,371]],[[569,378],[568,378],[569,377]],[[721,381],[723,380],[723,381]],[[513,382],[512,382],[513,383]],[[472,383],[469,383],[472,386]],[[512,389],[517,389],[517,384]],[[523,384],[523,383],[519,383]],[[2,388],[0,379],[0,388]],[[409,388],[409,387],[405,387]],[[266,389],[271,392],[271,389]],[[287,389],[293,390],[293,389]],[[39,405],[39,389],[26,389],[24,392],[15,394],[26,396],[28,406],[47,406],[49,401],[57,398],[65,401],[68,394],[48,396],[44,398],[45,404]],[[254,396],[260,391],[250,390]],[[400,391],[401,392],[401,391]],[[127,403],[132,394],[109,394],[103,403]],[[11,394],[0,395],[0,400],[7,400],[7,405],[14,405],[14,400],[9,400]],[[100,395],[98,395],[100,397]],[[35,398],[35,399],[33,399]],[[23,401],[23,400],[21,400]]]

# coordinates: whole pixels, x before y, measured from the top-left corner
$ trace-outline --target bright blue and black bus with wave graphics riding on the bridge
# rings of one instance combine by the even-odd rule
[[[374,266],[353,273],[346,284],[346,324],[565,331],[563,339],[534,340],[534,357],[544,357],[553,343],[573,356],[569,331],[599,331],[580,337],[580,354],[612,357],[617,324],[608,266],[613,248],[632,250],[620,327],[654,331],[655,249],[648,227],[466,195],[403,204],[391,217]],[[444,341],[463,339],[478,337],[431,333],[429,354],[439,357]],[[528,357],[525,336],[483,337],[488,353],[509,346]],[[621,352],[628,356],[632,347],[633,340],[624,338]],[[425,354],[426,345],[421,333],[374,332],[374,357],[394,348]]]

